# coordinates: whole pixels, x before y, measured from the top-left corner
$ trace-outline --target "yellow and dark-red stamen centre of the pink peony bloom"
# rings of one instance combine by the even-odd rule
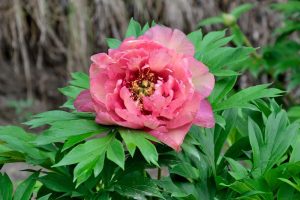
[[[135,80],[131,82],[130,91],[134,100],[142,101],[144,96],[150,96],[155,91],[157,77],[149,68],[140,70]]]

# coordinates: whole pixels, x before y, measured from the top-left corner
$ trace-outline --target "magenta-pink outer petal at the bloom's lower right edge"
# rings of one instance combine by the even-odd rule
[[[211,105],[207,100],[202,100],[200,102],[194,124],[206,128],[212,128],[215,126],[214,114]]]

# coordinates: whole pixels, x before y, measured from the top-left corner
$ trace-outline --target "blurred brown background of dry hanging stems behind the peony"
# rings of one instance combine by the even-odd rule
[[[89,57],[106,51],[105,38],[122,39],[131,17],[195,30],[201,19],[242,3],[256,7],[239,24],[254,46],[271,42],[280,15],[270,3],[286,0],[0,0],[0,125],[57,109],[57,91],[72,71],[89,68]],[[221,26],[206,27],[205,32]]]

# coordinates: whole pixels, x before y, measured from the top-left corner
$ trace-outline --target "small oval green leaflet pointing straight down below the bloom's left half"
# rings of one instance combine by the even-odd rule
[[[119,140],[114,139],[111,145],[108,147],[107,158],[119,165],[124,170],[125,153],[123,144]]]

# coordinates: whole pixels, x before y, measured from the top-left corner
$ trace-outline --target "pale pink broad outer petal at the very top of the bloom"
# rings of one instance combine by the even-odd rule
[[[170,28],[156,25],[150,28],[141,38],[154,40],[178,53],[191,56],[194,56],[195,53],[194,45],[187,39],[183,32],[177,29],[173,31]]]

